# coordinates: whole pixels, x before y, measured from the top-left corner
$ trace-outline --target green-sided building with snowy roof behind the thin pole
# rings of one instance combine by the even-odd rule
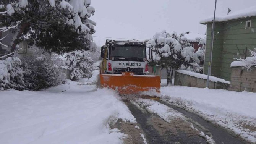
[[[207,25],[204,74],[208,73],[211,53],[212,19],[200,22]],[[250,56],[249,49],[256,47],[256,6],[215,19],[211,76],[230,81],[230,64],[237,61],[235,58]]]

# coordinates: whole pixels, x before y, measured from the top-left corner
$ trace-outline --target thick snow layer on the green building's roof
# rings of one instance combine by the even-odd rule
[[[251,17],[251,16],[256,16],[256,6],[252,6],[250,8],[235,11],[233,13],[230,12],[230,14],[226,15],[226,16],[216,16],[215,21],[222,22],[222,21],[229,21],[229,20],[239,19],[239,18],[247,18],[247,17]],[[209,23],[212,21],[213,21],[213,17],[203,19],[202,21],[200,21],[200,23],[204,24],[204,23]]]

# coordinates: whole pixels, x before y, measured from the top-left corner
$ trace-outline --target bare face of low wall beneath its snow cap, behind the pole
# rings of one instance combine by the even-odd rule
[[[189,76],[175,71],[174,85],[205,88],[206,83],[207,79],[196,78],[194,76]],[[226,83],[209,82],[210,89],[228,89],[229,86],[230,85]]]

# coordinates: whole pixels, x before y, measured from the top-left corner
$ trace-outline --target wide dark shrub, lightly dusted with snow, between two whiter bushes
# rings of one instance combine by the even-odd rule
[[[45,55],[23,58],[23,70],[26,89],[31,91],[66,83],[66,75],[62,73],[60,66],[54,65]]]

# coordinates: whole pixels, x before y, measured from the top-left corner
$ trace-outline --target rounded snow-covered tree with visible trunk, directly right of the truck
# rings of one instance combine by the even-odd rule
[[[171,70],[180,68],[183,55],[182,46],[175,38],[177,34],[169,34],[166,31],[156,33],[154,37],[149,40],[147,47],[153,50],[153,61],[149,65],[159,65],[167,70],[167,83],[171,82]]]

